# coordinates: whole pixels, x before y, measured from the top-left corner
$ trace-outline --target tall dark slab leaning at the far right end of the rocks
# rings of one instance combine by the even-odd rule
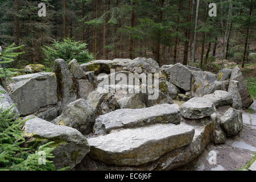
[[[253,103],[253,99],[247,89],[245,79],[243,78],[240,68],[234,67],[230,76],[230,80],[238,81],[238,89],[242,99],[242,107],[249,107]]]

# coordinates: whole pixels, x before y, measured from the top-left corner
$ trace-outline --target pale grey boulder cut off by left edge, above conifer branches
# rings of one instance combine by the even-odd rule
[[[4,88],[0,85],[0,109],[2,110],[7,110],[10,109],[11,106],[14,105],[13,100],[11,100],[11,97],[9,94],[6,92]],[[16,114],[19,114],[19,110],[17,109],[16,106],[13,107],[13,111]]]

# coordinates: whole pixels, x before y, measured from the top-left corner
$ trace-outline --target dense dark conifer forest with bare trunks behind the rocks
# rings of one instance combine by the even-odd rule
[[[46,17],[38,4],[46,4]],[[216,57],[255,63],[255,0],[1,0],[0,44],[24,45],[12,67],[47,64],[44,46],[65,38],[94,59],[152,57],[207,68]],[[217,16],[210,17],[209,3]],[[54,60],[52,60],[54,61]],[[221,62],[220,66],[223,66]]]

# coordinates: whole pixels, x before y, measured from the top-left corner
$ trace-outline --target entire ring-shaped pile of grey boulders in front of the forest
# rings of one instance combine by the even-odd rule
[[[73,170],[184,166],[210,142],[237,135],[241,109],[253,102],[238,67],[214,75],[142,57],[82,65],[57,59],[52,73],[13,77],[9,88],[0,87],[0,105],[15,103],[13,111],[30,118],[26,145],[55,142],[56,168]]]

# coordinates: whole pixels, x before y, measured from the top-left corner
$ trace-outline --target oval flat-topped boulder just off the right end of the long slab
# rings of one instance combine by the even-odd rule
[[[212,115],[216,111],[213,102],[207,98],[194,97],[181,105],[180,114],[184,118],[199,119]]]

